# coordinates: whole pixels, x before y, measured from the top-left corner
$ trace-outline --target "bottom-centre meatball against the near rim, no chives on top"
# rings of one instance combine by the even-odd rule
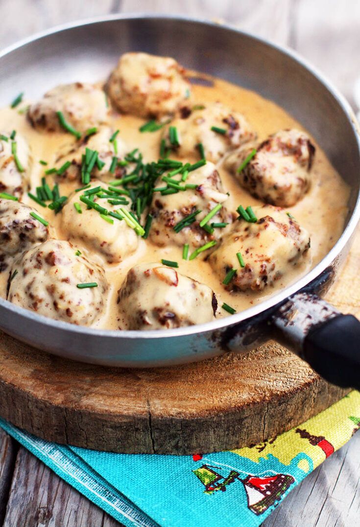
[[[125,329],[171,329],[210,322],[217,300],[211,288],[161,264],[129,270],[118,290]]]

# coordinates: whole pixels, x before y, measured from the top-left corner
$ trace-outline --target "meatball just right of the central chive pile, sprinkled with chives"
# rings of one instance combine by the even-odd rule
[[[219,239],[222,235],[222,229],[215,228],[209,233],[199,226],[209,211],[228,198],[214,164],[208,161],[203,167],[189,172],[186,183],[196,184],[197,187],[165,196],[159,192],[154,193],[150,207],[153,222],[149,237],[158,246],[166,246],[168,243],[183,246],[184,243],[189,243],[194,247],[200,247],[208,241]],[[163,186],[164,182],[160,178],[155,187]],[[179,221],[196,211],[200,212],[196,214],[195,221],[191,225],[179,232],[174,230]],[[232,216],[225,207],[211,218],[211,222],[215,223],[231,221]]]

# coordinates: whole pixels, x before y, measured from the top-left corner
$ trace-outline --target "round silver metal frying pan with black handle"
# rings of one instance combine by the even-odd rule
[[[231,27],[169,16],[108,16],[55,28],[0,54],[0,104],[26,90],[105,79],[127,51],[173,56],[186,67],[255,90],[312,133],[351,187],[341,238],[306,276],[235,315],[158,331],[110,331],[52,320],[0,299],[0,328],[69,359],[122,367],[182,364],[276,338],[329,382],[360,388],[360,322],[321,296],[331,285],[359,220],[360,145],[344,97],[291,51]]]

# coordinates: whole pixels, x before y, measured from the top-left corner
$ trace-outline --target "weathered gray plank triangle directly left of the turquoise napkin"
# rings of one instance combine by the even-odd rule
[[[20,447],[4,527],[119,527],[101,509]]]

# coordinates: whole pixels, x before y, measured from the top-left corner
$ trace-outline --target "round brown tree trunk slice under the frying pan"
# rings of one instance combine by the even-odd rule
[[[360,231],[328,299],[359,314]],[[269,341],[169,368],[64,360],[0,333],[0,415],[48,441],[124,453],[192,454],[256,444],[297,426],[348,390]]]

